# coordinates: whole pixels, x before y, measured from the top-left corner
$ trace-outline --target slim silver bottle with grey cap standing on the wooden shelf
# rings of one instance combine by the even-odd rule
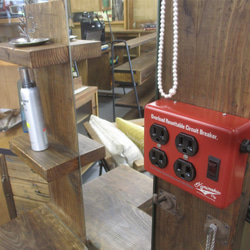
[[[43,151],[48,148],[47,131],[43,117],[39,89],[36,87],[33,71],[21,67],[19,73],[22,81],[21,99],[28,127],[31,149]]]

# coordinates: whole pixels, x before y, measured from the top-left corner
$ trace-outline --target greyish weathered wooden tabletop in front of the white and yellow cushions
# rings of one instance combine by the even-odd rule
[[[150,178],[121,166],[83,185],[83,195],[92,246],[151,249],[151,217],[137,208],[152,195]]]

